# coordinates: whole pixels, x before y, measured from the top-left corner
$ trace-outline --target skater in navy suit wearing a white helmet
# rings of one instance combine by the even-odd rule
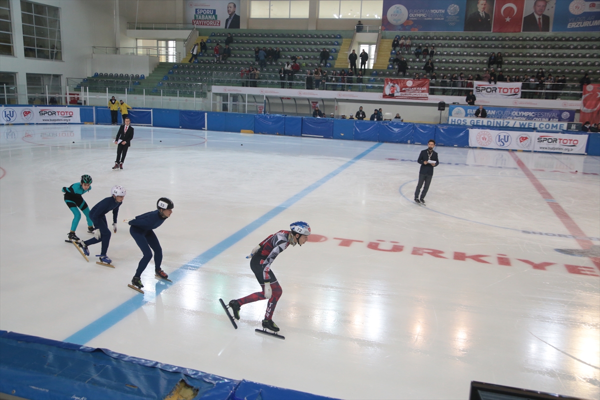
[[[83,252],[85,252],[85,255],[89,255],[88,246],[102,242],[102,249],[98,257],[100,257],[100,262],[104,264],[112,263],[112,260],[106,255],[106,252],[109,249],[111,235],[109,225],[106,222],[106,214],[109,211],[113,212],[113,231],[116,233],[116,217],[119,215],[119,207],[123,204],[125,194],[127,194],[125,188],[122,186],[113,186],[110,190],[111,196],[100,200],[98,204],[92,207],[92,210],[89,212],[89,218],[92,219],[94,227],[96,228],[94,237],[85,242],[78,243],[83,249]]]

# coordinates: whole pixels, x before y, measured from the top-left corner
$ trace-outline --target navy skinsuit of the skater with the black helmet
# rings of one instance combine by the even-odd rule
[[[158,210],[155,210],[138,215],[129,221],[131,225],[129,233],[131,233],[131,237],[136,241],[137,246],[139,246],[144,255],[140,263],[137,264],[135,278],[142,276],[142,272],[144,272],[148,263],[152,260],[152,251],[150,249],[154,250],[154,270],[160,271],[160,263],[163,261],[163,248],[161,248],[158,237],[156,237],[153,229],[160,227],[165,219],[160,216]]]

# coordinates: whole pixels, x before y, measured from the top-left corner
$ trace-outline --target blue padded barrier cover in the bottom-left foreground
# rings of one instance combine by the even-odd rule
[[[194,400],[331,399],[5,330],[0,370],[0,392],[20,398],[164,399],[185,387]]]

